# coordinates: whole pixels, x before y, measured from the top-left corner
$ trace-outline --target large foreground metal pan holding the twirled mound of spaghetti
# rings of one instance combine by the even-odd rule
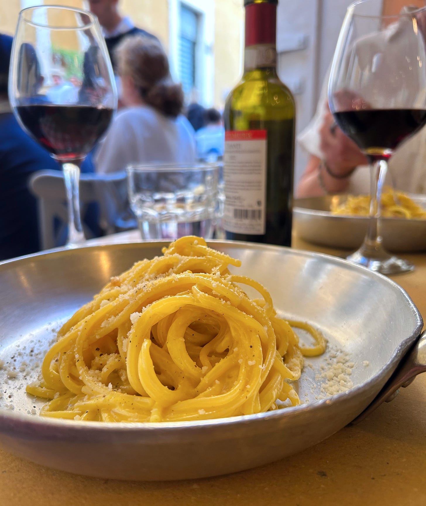
[[[196,237],[3,262],[0,321],[0,445],[129,480],[226,474],[314,445],[377,404],[426,339],[384,276]]]

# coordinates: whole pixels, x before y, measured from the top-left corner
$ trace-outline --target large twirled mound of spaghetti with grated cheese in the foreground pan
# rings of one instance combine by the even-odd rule
[[[280,319],[260,283],[228,270],[240,265],[190,236],[112,278],[64,324],[41,381],[27,386],[49,400],[40,414],[153,422],[299,404],[289,382],[300,377],[303,355],[324,352],[324,339]],[[315,346],[299,346],[290,323]]]

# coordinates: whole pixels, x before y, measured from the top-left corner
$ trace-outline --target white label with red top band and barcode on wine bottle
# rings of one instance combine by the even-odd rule
[[[228,232],[266,233],[266,130],[225,134],[225,213]]]

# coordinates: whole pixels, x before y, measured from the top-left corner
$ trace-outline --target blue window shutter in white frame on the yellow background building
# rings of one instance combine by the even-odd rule
[[[179,74],[182,87],[189,95],[196,83],[196,55],[198,15],[187,6],[180,5]]]

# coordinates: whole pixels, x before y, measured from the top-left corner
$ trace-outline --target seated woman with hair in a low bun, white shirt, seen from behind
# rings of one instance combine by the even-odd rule
[[[182,115],[182,86],[173,82],[160,44],[127,37],[116,56],[124,108],[95,155],[96,172],[122,171],[130,163],[194,163],[194,130]]]

